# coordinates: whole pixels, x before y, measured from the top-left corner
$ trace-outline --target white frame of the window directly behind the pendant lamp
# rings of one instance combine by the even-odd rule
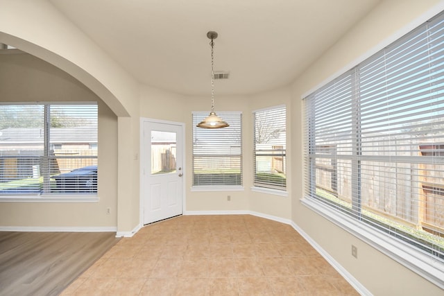
[[[218,129],[205,129],[205,128],[197,128],[196,124],[200,121],[203,120],[203,118],[205,118],[206,116],[208,116],[208,112],[204,112],[204,111],[193,111],[191,112],[191,123],[192,123],[192,128],[191,128],[191,139],[193,139],[193,144],[191,146],[191,191],[244,191],[244,143],[243,143],[243,139],[242,139],[242,134],[243,134],[243,114],[242,112],[239,111],[219,111],[217,112],[218,116],[220,116],[222,119],[224,119],[225,121],[228,122],[228,124],[230,124],[230,121],[228,119],[226,119],[229,116],[239,116],[239,122],[236,123],[236,125],[239,125],[239,141],[240,141],[240,148],[239,154],[234,154],[232,156],[234,157],[239,157],[239,170],[240,170],[240,184],[195,184],[194,180],[195,180],[195,173],[194,173],[194,168],[195,168],[195,149],[196,147],[194,146],[194,137],[195,137],[195,131],[202,131],[205,132],[206,130],[208,132],[212,132],[212,133],[216,133],[216,132],[223,132],[223,130],[227,130],[231,127],[233,127],[232,124],[230,124],[230,127],[228,128],[218,128]],[[205,157],[205,155],[199,155],[199,157]],[[208,156],[208,157],[211,157]]]

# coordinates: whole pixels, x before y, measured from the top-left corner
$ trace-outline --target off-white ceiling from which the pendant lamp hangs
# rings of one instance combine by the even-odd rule
[[[254,94],[288,85],[379,0],[49,0],[121,67],[171,92]]]

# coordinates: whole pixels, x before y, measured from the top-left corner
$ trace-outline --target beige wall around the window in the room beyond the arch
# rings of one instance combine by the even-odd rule
[[[78,80],[26,53],[0,54],[0,101],[98,101],[99,202],[1,202],[6,227],[117,227],[117,116]],[[106,214],[108,207],[111,214]]]

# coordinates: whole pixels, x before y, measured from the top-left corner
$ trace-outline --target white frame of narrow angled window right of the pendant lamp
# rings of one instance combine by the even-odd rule
[[[284,109],[284,135],[285,135],[285,139],[284,139],[284,143],[282,143],[282,141],[279,142],[279,146],[284,146],[285,148],[282,149],[282,151],[284,151],[284,153],[282,153],[280,156],[284,157],[284,159],[282,159],[282,166],[283,166],[283,171],[284,171],[284,175],[286,177],[285,179],[285,184],[284,186],[278,186],[277,184],[266,184],[264,182],[257,182],[256,180],[256,171],[257,171],[257,149],[256,149],[256,141],[257,141],[257,137],[256,137],[256,121],[257,121],[257,116],[256,114],[259,112],[274,112],[276,110],[281,110]],[[266,107],[266,108],[262,108],[259,110],[253,110],[252,112],[252,116],[253,116],[253,186],[251,187],[252,191],[255,192],[260,192],[260,193],[269,193],[269,194],[273,194],[273,195],[280,195],[280,196],[288,196],[288,186],[287,186],[287,105],[282,104],[282,105],[274,105],[271,107]],[[275,145],[276,146],[276,145]],[[268,156],[272,156],[272,155],[268,155]]]

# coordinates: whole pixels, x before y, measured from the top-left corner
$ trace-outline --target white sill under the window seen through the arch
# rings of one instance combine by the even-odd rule
[[[0,202],[99,202],[99,195],[3,195]]]

